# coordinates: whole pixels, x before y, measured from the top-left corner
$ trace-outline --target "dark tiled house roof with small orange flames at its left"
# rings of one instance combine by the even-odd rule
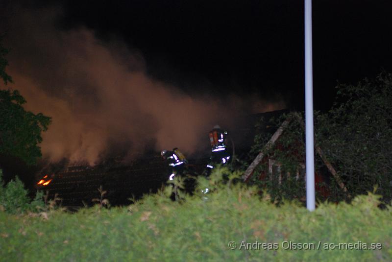
[[[272,115],[282,113],[278,111]],[[228,130],[229,137],[235,141],[237,157],[241,158],[249,152],[253,144],[256,121],[261,116],[270,118],[270,115],[271,113],[248,116],[238,123],[236,130]],[[189,159],[196,173],[202,173],[208,157],[206,155],[198,159]],[[63,199],[64,206],[82,206],[91,205],[92,199],[98,196],[97,189],[102,186],[107,191],[106,198],[112,205],[123,205],[129,204],[128,198],[132,195],[140,197],[161,188],[168,179],[168,173],[168,166],[160,153],[150,152],[140,154],[129,162],[124,161],[124,156],[108,158],[94,167],[89,166],[87,162],[52,165],[41,173],[45,175],[39,179],[36,187],[49,191],[49,197],[57,193]]]

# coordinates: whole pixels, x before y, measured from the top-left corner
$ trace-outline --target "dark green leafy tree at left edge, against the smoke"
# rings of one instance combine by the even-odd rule
[[[0,43],[0,77],[4,84],[12,81],[5,72],[7,50]],[[25,98],[17,90],[0,90],[0,153],[21,158],[28,165],[41,157],[41,132],[46,131],[51,119],[42,113],[25,111]]]

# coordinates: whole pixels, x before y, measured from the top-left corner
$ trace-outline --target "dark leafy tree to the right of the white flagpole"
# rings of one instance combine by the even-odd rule
[[[337,102],[319,115],[316,143],[337,167],[352,194],[392,196],[392,74],[337,86]]]

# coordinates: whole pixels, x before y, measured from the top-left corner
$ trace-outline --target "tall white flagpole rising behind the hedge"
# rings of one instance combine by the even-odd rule
[[[313,141],[312,0],[305,0],[305,141],[306,207],[315,210],[315,156]]]

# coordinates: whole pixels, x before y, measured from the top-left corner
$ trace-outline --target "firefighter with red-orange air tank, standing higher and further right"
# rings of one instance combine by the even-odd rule
[[[209,133],[209,136],[211,143],[211,157],[207,168],[211,171],[211,169],[218,164],[226,165],[231,156],[227,149],[227,131],[222,130],[219,125],[216,125]]]

